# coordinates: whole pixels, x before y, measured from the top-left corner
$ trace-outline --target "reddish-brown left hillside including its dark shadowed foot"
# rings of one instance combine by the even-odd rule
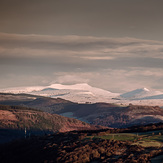
[[[0,143],[23,137],[25,128],[27,135],[97,129],[85,122],[57,114],[22,106],[0,105]]]

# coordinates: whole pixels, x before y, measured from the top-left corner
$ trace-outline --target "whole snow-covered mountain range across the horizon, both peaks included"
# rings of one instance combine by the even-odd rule
[[[163,92],[141,88],[123,94],[112,93],[100,88],[92,87],[87,83],[50,86],[15,87],[0,89],[2,93],[28,93],[37,96],[62,98],[77,103],[109,102],[117,104],[129,103],[138,105],[163,106]]]

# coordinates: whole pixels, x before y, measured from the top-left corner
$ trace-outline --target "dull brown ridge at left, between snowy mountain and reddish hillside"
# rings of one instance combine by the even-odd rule
[[[26,106],[48,113],[57,113],[57,111],[65,108],[73,108],[73,105],[77,105],[76,103],[61,98],[11,93],[0,93],[0,104]]]

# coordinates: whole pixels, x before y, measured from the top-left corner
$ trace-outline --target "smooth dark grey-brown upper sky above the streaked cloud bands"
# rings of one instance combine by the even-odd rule
[[[0,31],[162,40],[162,5],[162,0],[1,0]]]

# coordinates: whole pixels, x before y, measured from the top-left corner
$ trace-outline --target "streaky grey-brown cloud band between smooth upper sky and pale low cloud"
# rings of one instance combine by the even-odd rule
[[[1,33],[0,42],[1,64],[69,71],[163,66],[163,42],[160,41]]]

